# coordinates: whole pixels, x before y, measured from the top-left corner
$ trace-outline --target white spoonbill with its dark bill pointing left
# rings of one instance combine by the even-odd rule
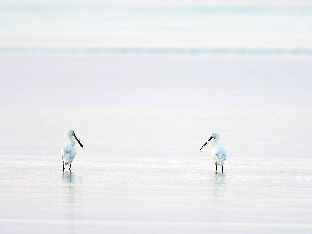
[[[204,147],[212,138],[214,138],[214,141],[212,142],[210,155],[212,157],[212,160],[215,162],[216,172],[217,172],[217,164],[222,166],[222,172],[223,172],[223,164],[225,160],[227,159],[227,152],[225,151],[224,147],[217,145],[220,139],[219,133],[217,132],[213,133],[211,137],[209,138],[209,140],[202,147]],[[202,148],[200,148],[200,150],[202,150]]]

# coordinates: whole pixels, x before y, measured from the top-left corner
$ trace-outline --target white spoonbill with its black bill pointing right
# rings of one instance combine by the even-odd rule
[[[71,170],[71,163],[73,162],[75,156],[76,156],[76,150],[75,150],[75,141],[74,141],[74,137],[75,139],[78,141],[79,145],[81,147],[83,147],[83,145],[80,143],[80,141],[78,140],[78,138],[75,135],[74,130],[68,130],[67,132],[67,137],[69,139],[69,144],[63,146],[63,148],[61,149],[61,156],[62,156],[62,160],[63,160],[63,171],[65,170],[64,167],[64,163],[65,165],[69,165],[69,170]]]

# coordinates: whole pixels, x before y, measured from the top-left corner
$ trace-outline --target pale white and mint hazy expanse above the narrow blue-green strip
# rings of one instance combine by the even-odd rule
[[[4,2],[14,3],[12,7],[0,8],[0,47],[5,48],[312,48],[312,5],[310,8],[300,7],[310,4],[310,1],[305,0],[234,0],[226,3],[212,0],[194,0],[191,3],[184,0],[157,3],[150,0]],[[32,5],[25,5],[27,3]],[[93,7],[101,3],[104,5]],[[117,4],[117,7],[106,7],[105,4]],[[122,7],[129,4],[139,4],[139,10]],[[173,7],[157,7],[170,4]],[[200,7],[188,8],[188,4],[207,4],[208,8],[217,5],[221,10],[203,8],[201,11]],[[227,7],[236,4],[247,7],[238,10]],[[145,7],[147,5],[152,7]],[[269,7],[263,10],[258,8],[259,5]],[[275,8],[275,5],[280,8]],[[292,10],[290,5],[297,8]],[[249,9],[248,6],[254,7]]]

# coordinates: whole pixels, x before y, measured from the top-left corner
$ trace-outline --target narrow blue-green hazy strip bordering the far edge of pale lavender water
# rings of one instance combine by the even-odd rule
[[[163,55],[312,55],[312,48],[291,47],[0,47],[1,54],[163,54]]]

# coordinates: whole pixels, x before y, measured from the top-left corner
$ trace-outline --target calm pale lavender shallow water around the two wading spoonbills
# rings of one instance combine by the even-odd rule
[[[2,233],[311,232],[310,57],[0,59]]]

